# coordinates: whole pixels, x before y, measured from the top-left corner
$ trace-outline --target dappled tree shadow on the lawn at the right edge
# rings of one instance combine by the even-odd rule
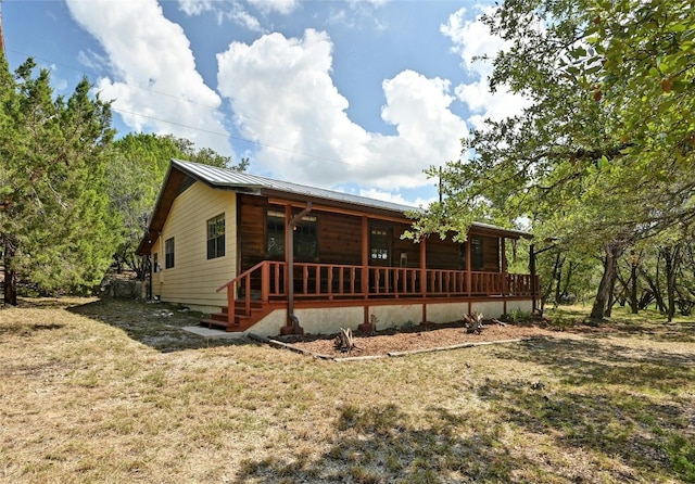
[[[695,482],[695,455],[690,455],[695,454],[692,355],[594,340],[534,340],[515,349],[500,348],[496,356],[535,362],[558,379],[553,385],[488,380],[478,394],[502,419],[556,435],[560,447],[618,456],[635,474],[626,480]],[[682,442],[675,451],[674,441]]]

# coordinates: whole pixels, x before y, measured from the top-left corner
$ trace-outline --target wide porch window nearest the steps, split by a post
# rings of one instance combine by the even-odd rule
[[[313,260],[318,257],[318,221],[307,215],[294,226],[294,257]],[[266,213],[266,251],[268,256],[285,257],[285,213]]]

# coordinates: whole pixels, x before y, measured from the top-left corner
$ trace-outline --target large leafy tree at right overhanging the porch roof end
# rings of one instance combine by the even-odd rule
[[[465,233],[473,219],[522,219],[538,238],[586,256],[603,247],[592,309],[597,319],[609,311],[620,255],[695,217],[693,123],[679,111],[692,107],[693,56],[680,50],[692,50],[693,14],[674,0],[660,2],[655,15],[642,12],[650,7],[644,2],[611,5],[510,0],[483,16],[510,44],[494,58],[491,90],[506,84],[530,105],[519,116],[486,120],[462,141],[467,160],[441,174],[446,196],[415,224],[419,232]],[[672,80],[656,91],[635,74],[650,66],[658,73],[665,62],[658,42],[668,39],[674,42],[666,56]],[[654,118],[632,135],[645,113]],[[666,135],[671,127],[672,137]]]

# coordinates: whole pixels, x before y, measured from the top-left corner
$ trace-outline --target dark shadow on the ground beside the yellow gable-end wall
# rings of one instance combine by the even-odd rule
[[[67,310],[118,328],[131,340],[162,353],[215,346],[257,345],[247,339],[206,339],[184,331],[184,327],[199,326],[202,314],[166,303],[104,298],[70,307]]]

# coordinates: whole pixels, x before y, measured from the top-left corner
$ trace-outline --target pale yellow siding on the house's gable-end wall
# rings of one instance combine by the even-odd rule
[[[233,192],[213,190],[197,181],[181,193],[156,241],[162,270],[153,292],[162,301],[219,309],[227,293],[215,292],[237,273],[237,203]],[[207,259],[207,220],[225,214],[225,256]],[[174,238],[174,267],[165,269],[164,241]]]

